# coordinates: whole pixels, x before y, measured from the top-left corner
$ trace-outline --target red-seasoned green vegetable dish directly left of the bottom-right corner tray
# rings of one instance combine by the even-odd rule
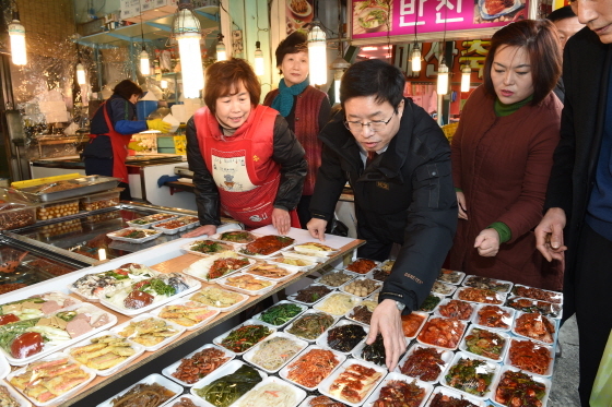
[[[486,394],[493,380],[493,372],[485,373],[489,371],[490,369],[483,360],[459,359],[450,368],[445,379],[449,386],[482,397]]]

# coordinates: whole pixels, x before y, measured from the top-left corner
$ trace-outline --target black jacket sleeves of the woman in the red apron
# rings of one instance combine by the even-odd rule
[[[187,122],[187,161],[189,169],[193,171],[198,217],[201,225],[221,225],[219,191],[200,153],[197,134],[196,123],[191,118]],[[281,166],[281,183],[274,207],[291,211],[302,197],[308,164],[304,158],[304,148],[280,115],[274,121],[273,143],[272,159]]]

